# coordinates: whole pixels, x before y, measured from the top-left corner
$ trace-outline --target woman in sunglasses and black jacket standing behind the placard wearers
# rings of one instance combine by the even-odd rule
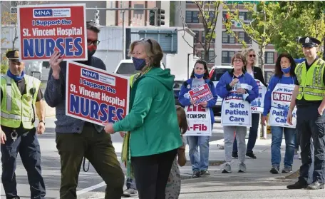
[[[246,66],[244,66],[245,71],[249,73],[251,76],[253,76],[254,79],[258,79],[261,81],[264,86],[267,86],[267,84],[264,81],[263,73],[261,68],[254,66],[256,63],[257,55],[254,51],[254,49],[244,49],[242,52],[243,56],[247,60]],[[248,137],[248,143],[247,143],[247,149],[246,149],[246,156],[247,158],[256,159],[256,156],[253,153],[253,148],[256,143],[257,138],[257,131],[259,128],[259,113],[252,113],[252,127],[249,128],[249,137]],[[238,158],[238,149],[237,149],[237,141],[236,138],[234,138],[234,145],[232,148],[232,158]]]

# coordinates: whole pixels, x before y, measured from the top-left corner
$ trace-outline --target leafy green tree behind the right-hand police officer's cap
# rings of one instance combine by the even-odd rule
[[[304,57],[298,39],[312,36],[325,43],[325,1],[294,1],[292,15],[274,36],[272,44],[280,53],[287,51],[293,57]],[[319,51],[321,56],[321,51]]]

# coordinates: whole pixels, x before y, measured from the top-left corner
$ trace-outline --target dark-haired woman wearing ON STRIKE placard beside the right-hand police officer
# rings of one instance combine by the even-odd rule
[[[289,104],[294,90],[294,68],[296,63],[289,53],[282,53],[277,58],[274,73],[269,81],[267,94],[264,99],[264,113],[262,124],[266,126],[267,114],[269,113],[269,125],[272,133],[270,173],[277,174],[281,163],[282,135],[286,140],[286,153],[284,155],[284,169],[282,173],[292,173],[294,161],[294,134],[296,133],[296,110],[294,110],[294,122],[287,123]]]

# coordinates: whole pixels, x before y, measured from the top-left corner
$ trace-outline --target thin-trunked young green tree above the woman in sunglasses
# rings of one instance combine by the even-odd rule
[[[260,67],[264,73],[264,54],[266,46],[271,44],[272,38],[279,33],[284,21],[287,21],[290,14],[292,14],[292,1],[258,1],[241,3],[244,9],[247,9],[251,20],[244,21],[239,16],[239,4],[225,4],[229,19],[224,21],[227,29],[227,34],[232,34],[238,39],[244,47],[247,44],[239,39],[232,29],[232,22],[240,24],[242,29],[249,36],[252,41],[259,45],[259,60]]]

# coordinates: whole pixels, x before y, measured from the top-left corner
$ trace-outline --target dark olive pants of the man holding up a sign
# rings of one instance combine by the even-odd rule
[[[121,198],[124,174],[109,134],[105,131],[98,133],[88,123],[81,134],[56,133],[56,148],[61,158],[61,199],[77,198],[76,188],[83,156],[105,181],[105,199]]]

